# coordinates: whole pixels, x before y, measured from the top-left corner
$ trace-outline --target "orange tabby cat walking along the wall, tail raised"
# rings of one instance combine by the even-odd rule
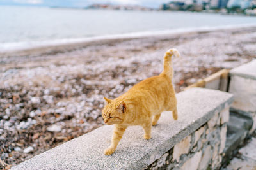
[[[116,99],[104,97],[104,122],[107,125],[115,124],[111,145],[104,150],[105,155],[115,152],[125,129],[130,125],[142,126],[144,138],[150,139],[151,127],[157,124],[163,111],[172,111],[174,120],[177,120],[177,100],[172,85],[172,55],[180,56],[177,50],[168,50],[164,55],[164,71],[158,76],[141,81]]]

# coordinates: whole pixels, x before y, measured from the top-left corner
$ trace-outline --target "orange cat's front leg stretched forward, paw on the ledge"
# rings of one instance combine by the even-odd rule
[[[112,134],[111,145],[104,150],[105,155],[111,155],[112,153],[115,152],[116,146],[118,145],[119,141],[122,139],[122,136],[126,128],[127,127],[120,127],[118,125],[115,125],[114,131]]]

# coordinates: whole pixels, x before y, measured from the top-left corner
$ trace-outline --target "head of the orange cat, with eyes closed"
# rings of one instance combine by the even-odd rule
[[[125,119],[127,105],[124,101],[115,101],[104,97],[106,105],[102,110],[104,123],[107,125],[122,124]]]

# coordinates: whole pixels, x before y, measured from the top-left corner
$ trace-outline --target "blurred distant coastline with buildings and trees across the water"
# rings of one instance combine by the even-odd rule
[[[107,10],[140,10],[140,11],[196,11],[205,13],[221,13],[227,15],[256,15],[256,1],[251,4],[239,3],[233,0],[210,0],[193,2],[190,0],[175,0],[163,3],[159,8],[145,6],[114,5],[114,4],[91,4],[84,9],[107,9]],[[254,2],[255,1],[255,2]],[[201,2],[201,3],[199,3]]]

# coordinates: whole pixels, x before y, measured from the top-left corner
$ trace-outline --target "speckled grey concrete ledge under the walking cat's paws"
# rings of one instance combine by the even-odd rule
[[[170,112],[161,115],[152,128],[152,139],[143,139],[141,127],[129,127],[116,152],[103,153],[111,140],[112,126],[104,125],[57,146],[12,169],[143,169],[168,152],[191,132],[227,108],[232,94],[202,88],[192,88],[177,94],[179,120]]]

